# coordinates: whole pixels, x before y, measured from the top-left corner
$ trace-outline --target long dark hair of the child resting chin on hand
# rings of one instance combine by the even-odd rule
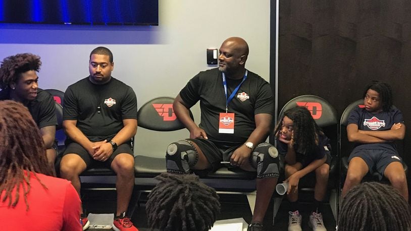
[[[278,122],[274,134],[281,131],[284,117],[292,120],[294,149],[301,154],[308,154],[315,151],[319,142],[319,135],[324,135],[321,128],[314,121],[310,111],[303,106],[296,106],[284,112]]]

